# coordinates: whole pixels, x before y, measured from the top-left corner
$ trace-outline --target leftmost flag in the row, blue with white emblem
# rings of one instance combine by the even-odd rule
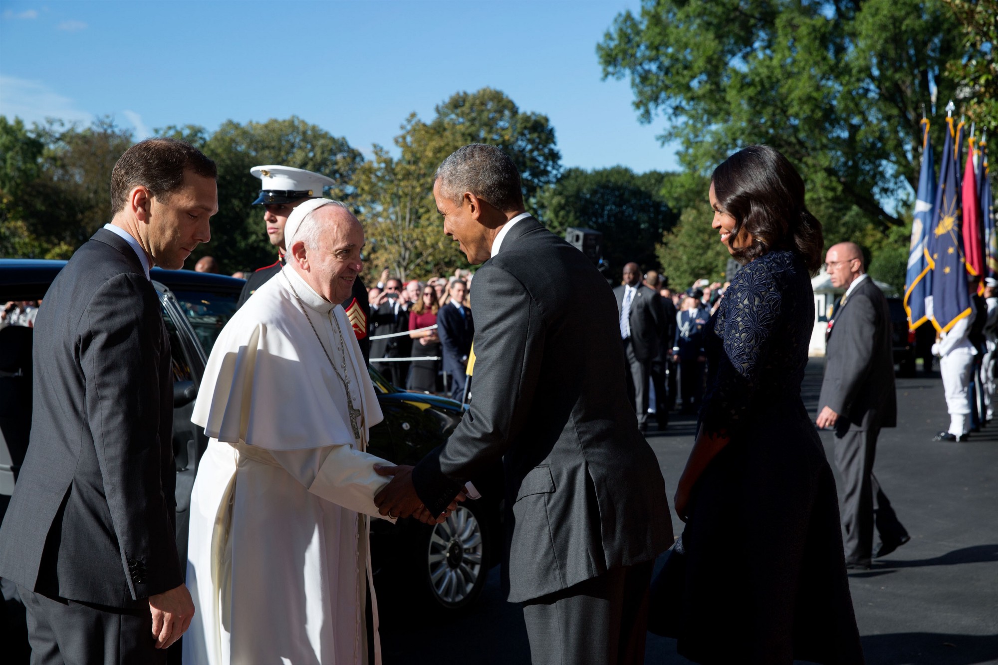
[[[922,139],[922,172],[918,176],[918,193],[915,196],[915,219],[911,224],[911,245],[908,248],[908,270],[904,278],[904,311],[908,315],[908,328],[915,330],[928,321],[925,299],[932,294],[932,271],[929,268],[929,234],[932,232],[932,213],[935,207],[935,167],[932,164],[932,146],[929,144],[929,121],[922,120],[925,135]]]

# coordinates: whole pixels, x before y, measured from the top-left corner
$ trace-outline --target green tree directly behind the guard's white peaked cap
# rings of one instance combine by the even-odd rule
[[[264,233],[262,207],[250,205],[260,188],[250,168],[280,164],[320,173],[336,181],[327,196],[348,201],[353,192],[350,180],[363,161],[346,139],[296,116],[245,125],[228,120],[211,134],[193,125],[156,132],[188,141],[219,168],[219,213],[212,218],[212,241],[199,246],[188,267],[209,255],[222,264],[224,272],[273,263],[275,252]]]

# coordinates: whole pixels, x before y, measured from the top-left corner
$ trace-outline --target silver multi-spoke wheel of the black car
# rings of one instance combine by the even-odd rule
[[[472,603],[485,585],[489,533],[476,511],[459,505],[426,538],[423,579],[433,604],[444,609]]]

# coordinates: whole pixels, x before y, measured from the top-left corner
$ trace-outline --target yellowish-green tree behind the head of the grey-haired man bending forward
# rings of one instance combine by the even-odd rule
[[[546,116],[521,112],[491,88],[460,92],[424,122],[415,114],[395,138],[398,157],[379,146],[360,169],[355,201],[369,244],[367,273],[383,268],[404,279],[441,274],[467,262],[443,234],[433,201],[433,176],[457,148],[485,143],[501,148],[520,171],[528,207],[560,170],[554,129]]]

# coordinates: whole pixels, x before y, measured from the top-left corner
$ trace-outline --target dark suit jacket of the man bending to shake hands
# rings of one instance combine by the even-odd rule
[[[673,544],[659,462],[624,386],[617,306],[589,259],[532,218],[476,272],[470,409],[413,470],[442,511],[502,457],[511,602],[651,561]]]

